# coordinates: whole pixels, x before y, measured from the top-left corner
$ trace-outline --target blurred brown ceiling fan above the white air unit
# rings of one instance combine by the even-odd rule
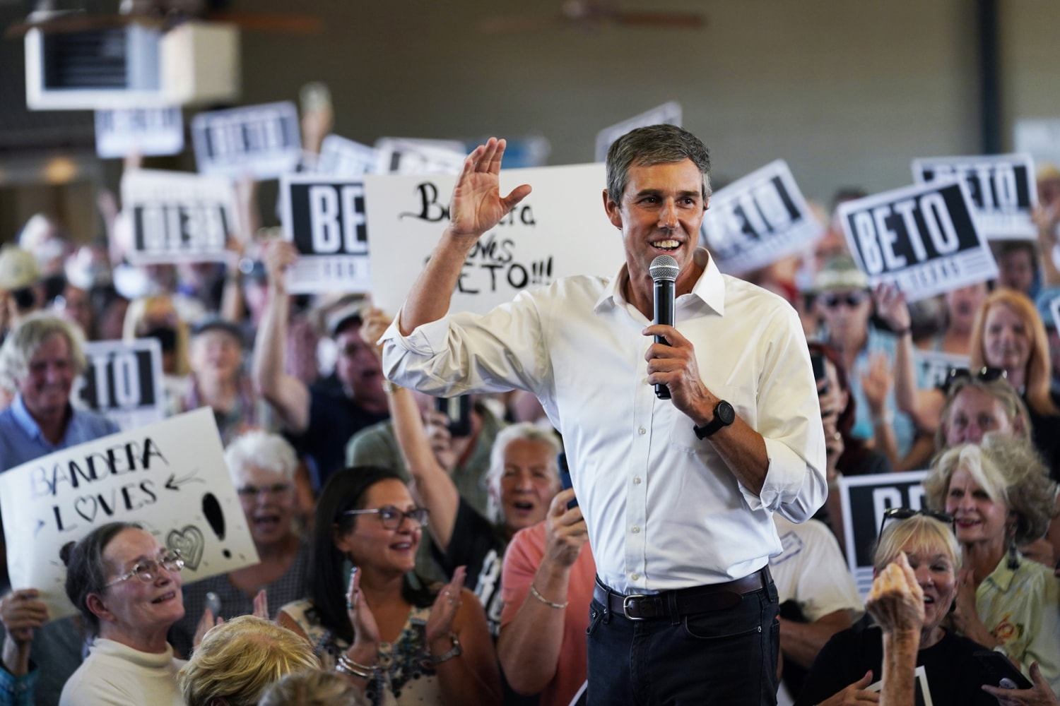
[[[122,0],[117,14],[88,12],[85,3],[73,10],[56,10],[54,0],[38,0],[24,21],[7,28],[5,37],[21,37],[31,29],[49,34],[106,30],[130,23],[169,30],[193,19],[231,22],[241,30],[317,34],[323,22],[315,15],[298,13],[233,12],[226,0]]]

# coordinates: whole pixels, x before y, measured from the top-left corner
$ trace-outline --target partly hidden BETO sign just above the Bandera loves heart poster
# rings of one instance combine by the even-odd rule
[[[123,430],[165,419],[162,346],[156,339],[89,341],[75,399]]]

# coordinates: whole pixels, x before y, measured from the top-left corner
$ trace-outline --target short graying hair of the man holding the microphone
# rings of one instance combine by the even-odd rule
[[[703,174],[703,201],[710,197],[710,152],[694,134],[675,125],[650,125],[626,132],[607,149],[607,196],[621,203],[630,167],[692,160]]]

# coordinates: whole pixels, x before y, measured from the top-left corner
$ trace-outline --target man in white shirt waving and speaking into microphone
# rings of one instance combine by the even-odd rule
[[[598,569],[590,704],[774,704],[772,515],[802,522],[827,492],[798,316],[696,248],[709,157],[668,125],[608,152],[603,203],[625,248],[617,276],[567,277],[484,315],[446,316],[467,253],[530,193],[500,196],[504,150],[491,139],[464,162],[449,224],[383,337],[384,372],[446,397],[530,391],[562,432]],[[651,324],[649,269],[664,254],[679,268],[673,327]]]

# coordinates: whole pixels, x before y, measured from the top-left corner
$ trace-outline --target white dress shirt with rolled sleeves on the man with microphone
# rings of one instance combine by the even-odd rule
[[[705,268],[675,303],[704,384],[765,439],[761,493],[655,396],[649,322],[622,295],[628,271],[520,292],[487,314],[455,313],[383,336],[388,379],[436,396],[527,390],[563,434],[600,579],[625,594],[742,578],[780,551],[773,512],[794,522],[825,501],[825,439],[802,327],[779,296]]]

